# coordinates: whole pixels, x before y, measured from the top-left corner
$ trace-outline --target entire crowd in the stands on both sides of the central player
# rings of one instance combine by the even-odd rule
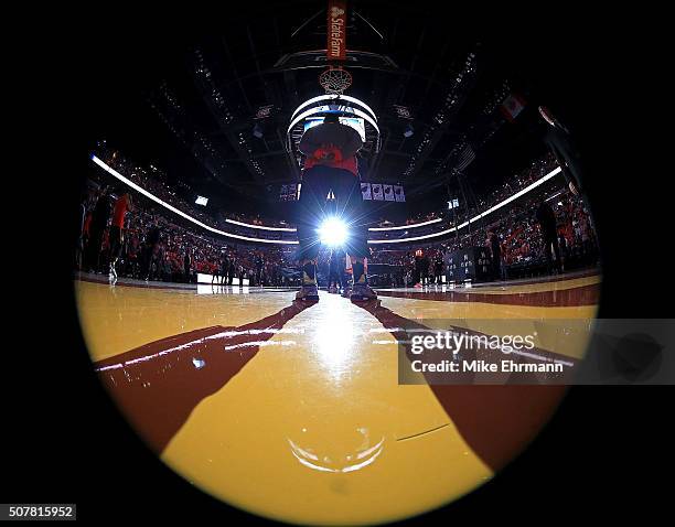
[[[274,222],[259,216],[246,216],[237,214],[223,215],[221,222],[208,216],[204,211],[196,208],[178,196],[175,189],[167,182],[165,175],[158,169],[151,166],[143,169],[125,159],[116,151],[101,149],[100,158],[110,166],[118,170],[143,189],[153,193],[164,202],[185,212],[186,214],[202,221],[204,224],[232,230],[232,225],[225,226],[225,217],[253,225],[288,227],[285,222]],[[479,208],[484,211],[490,206],[513,195],[521,189],[537,181],[556,166],[553,157],[546,157],[533,162],[532,165],[488,197],[478,201]],[[94,179],[96,180],[96,178]],[[117,182],[110,176],[98,181],[90,181],[90,191],[83,201],[83,235],[78,249],[77,267],[82,270],[94,272],[108,272],[110,265],[110,240],[109,228],[103,226],[100,238],[92,236],[92,217],[95,215],[97,204],[106,202],[108,215],[111,217],[114,202],[126,190],[119,186],[117,192],[111,192],[110,184]],[[293,267],[292,246],[247,246],[244,244],[228,244],[223,238],[214,238],[196,226],[184,226],[179,224],[178,216],[168,212],[154,202],[135,193],[135,205],[126,214],[125,236],[117,272],[124,277],[164,280],[164,281],[195,281],[197,272],[210,275],[248,278],[251,284],[287,286],[291,283],[288,273],[282,269]],[[427,277],[428,280],[437,280],[443,272],[443,258],[446,255],[465,247],[490,246],[488,233],[494,233],[501,248],[501,261],[505,275],[518,268],[527,266],[536,267],[543,260],[544,243],[537,218],[534,211],[537,203],[547,198],[554,209],[559,245],[564,262],[568,268],[581,267],[583,265],[596,265],[598,259],[597,240],[588,211],[580,197],[567,190],[560,190],[556,194],[550,192],[543,195],[525,196],[514,202],[503,214],[495,214],[495,219],[476,225],[471,230],[464,228],[459,236],[446,238],[442,243],[428,243],[418,247],[407,247],[404,250],[390,250],[375,245],[372,248],[369,264],[387,264],[404,269],[396,273],[398,278],[390,278],[397,286],[410,284],[414,280]],[[529,195],[528,195],[529,196]],[[465,214],[478,214],[478,209],[465,211]],[[441,213],[431,212],[409,218],[406,223],[415,224],[429,219],[442,217]],[[178,222],[178,223],[176,223]],[[108,222],[109,224],[109,222]],[[443,222],[443,228],[447,223]],[[189,225],[189,224],[186,224]],[[392,225],[384,218],[381,226]],[[415,229],[415,235],[422,235],[425,228],[435,229],[437,225]],[[157,244],[152,245],[149,252],[149,239],[161,233]],[[280,236],[271,233],[272,236]],[[286,234],[285,234],[286,235]],[[389,235],[389,233],[387,233]],[[405,229],[392,232],[393,236],[408,236]],[[92,248],[92,239],[97,247]],[[420,264],[416,251],[422,250],[424,262]],[[422,269],[424,268],[424,269]]]

